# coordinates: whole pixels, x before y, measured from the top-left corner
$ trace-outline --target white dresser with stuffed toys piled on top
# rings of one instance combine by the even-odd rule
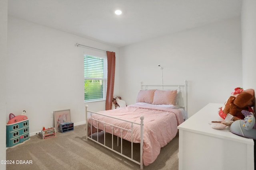
[[[254,170],[254,141],[226,129],[212,129],[223,121],[210,103],[178,126],[179,170]]]

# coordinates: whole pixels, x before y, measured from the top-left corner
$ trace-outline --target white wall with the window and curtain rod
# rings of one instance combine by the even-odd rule
[[[6,63],[6,122],[9,113],[26,110],[30,134],[54,125],[51,112],[71,109],[75,125],[85,123],[83,54],[98,51],[76,47],[80,43],[116,52],[114,94],[119,93],[118,48],[35,23],[8,18]],[[95,53],[94,53],[95,52]],[[88,103],[89,109],[104,110],[105,102]]]

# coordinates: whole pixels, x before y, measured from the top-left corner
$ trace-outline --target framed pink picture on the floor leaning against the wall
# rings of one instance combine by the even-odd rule
[[[70,109],[54,111],[54,127],[56,131],[60,131],[60,123],[69,122]]]

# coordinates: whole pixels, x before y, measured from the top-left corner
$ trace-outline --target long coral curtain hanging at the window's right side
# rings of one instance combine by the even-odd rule
[[[107,51],[108,57],[108,86],[106,94],[106,110],[112,109],[112,99],[114,92],[114,81],[115,81],[115,67],[116,67],[116,53]]]

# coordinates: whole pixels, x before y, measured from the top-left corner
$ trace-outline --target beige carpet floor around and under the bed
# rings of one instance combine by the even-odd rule
[[[111,135],[106,135],[106,139]],[[116,140],[115,140],[116,141]],[[111,143],[107,143],[111,146]],[[123,141],[123,152],[130,155],[131,143]],[[134,158],[139,159],[140,145],[134,144]],[[120,147],[114,143],[114,149]],[[6,150],[6,170],[139,170],[140,165],[123,158],[93,141],[85,140],[85,125],[74,131],[57,132],[55,137],[30,137]],[[178,170],[178,135],[163,147],[157,159],[144,170]]]

